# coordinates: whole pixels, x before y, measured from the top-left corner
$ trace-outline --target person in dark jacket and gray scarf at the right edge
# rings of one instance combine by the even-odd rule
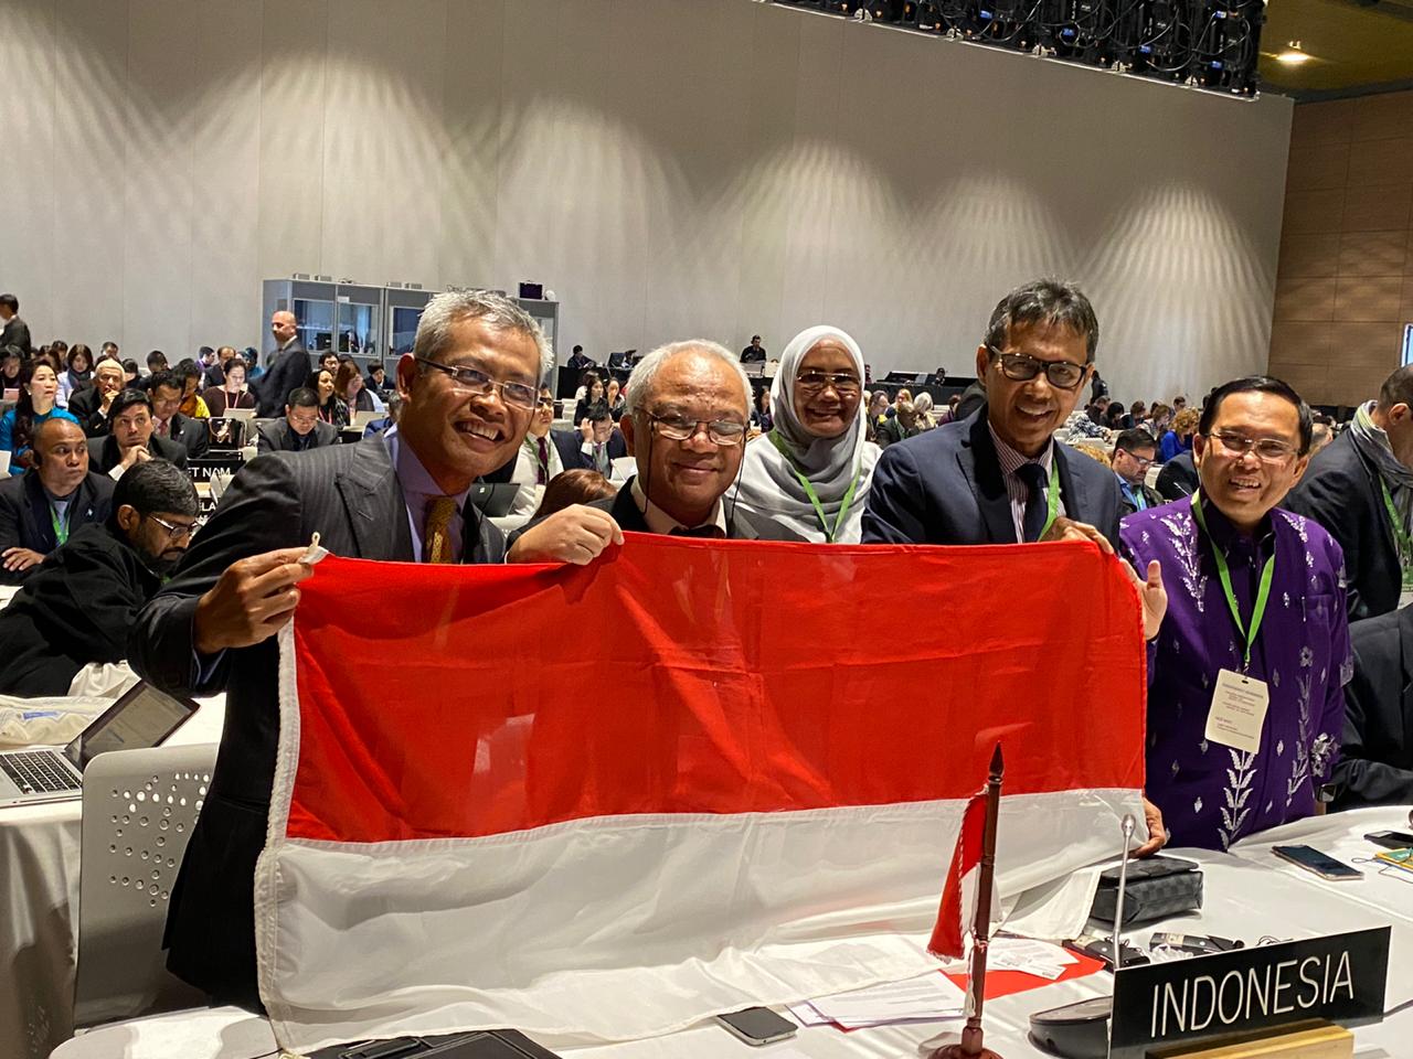
[[[1349,429],[1310,460],[1284,507],[1344,549],[1349,620],[1413,603],[1413,367],[1400,367]]]

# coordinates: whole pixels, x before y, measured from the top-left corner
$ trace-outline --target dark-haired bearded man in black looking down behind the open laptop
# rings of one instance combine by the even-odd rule
[[[137,613],[187,551],[196,511],[179,467],[151,460],[124,474],[109,517],[76,527],[0,610],[0,693],[68,695],[85,665],[124,661]]]

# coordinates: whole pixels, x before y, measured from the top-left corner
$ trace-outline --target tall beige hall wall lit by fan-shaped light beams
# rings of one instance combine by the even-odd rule
[[[1080,280],[1126,400],[1266,363],[1290,106],[749,0],[7,0],[37,339],[266,340],[260,280],[534,280],[602,356],[828,321],[971,371]]]

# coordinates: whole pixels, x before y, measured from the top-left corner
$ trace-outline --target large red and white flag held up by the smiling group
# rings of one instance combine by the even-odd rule
[[[629,534],[585,568],[329,558],[301,592],[256,873],[290,1051],[640,1038],[935,969],[998,741],[1009,894],[1140,810],[1137,599],[1092,545]]]

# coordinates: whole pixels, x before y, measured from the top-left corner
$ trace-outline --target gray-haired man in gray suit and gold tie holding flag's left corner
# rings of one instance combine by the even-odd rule
[[[280,729],[274,634],[314,572],[300,556],[318,531],[352,558],[499,562],[500,532],[468,494],[516,455],[552,367],[540,326],[513,301],[437,295],[397,364],[397,426],[247,463],[138,617],[130,658],[147,681],[226,692],[216,770],[167,918],[168,967],[218,1003],[260,1008],[253,884]]]

